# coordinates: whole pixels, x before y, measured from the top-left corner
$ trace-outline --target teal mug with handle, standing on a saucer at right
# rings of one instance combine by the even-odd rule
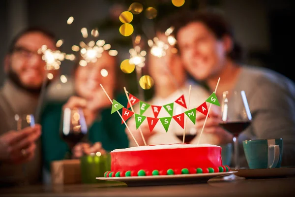
[[[281,167],[283,139],[255,139],[243,141],[250,169]]]

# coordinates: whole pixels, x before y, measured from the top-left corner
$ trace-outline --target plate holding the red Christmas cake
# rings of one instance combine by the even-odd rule
[[[177,174],[177,175],[157,175],[157,176],[128,176],[128,177],[96,177],[104,181],[119,181],[127,186],[150,186],[150,185],[180,185],[207,183],[210,178],[227,176],[237,171],[202,173],[202,174]]]

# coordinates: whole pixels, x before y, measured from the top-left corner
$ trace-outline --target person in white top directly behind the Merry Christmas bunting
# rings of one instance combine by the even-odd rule
[[[168,44],[167,36],[165,31],[171,27],[173,21],[170,21],[170,18],[164,18],[158,21],[155,25],[156,27],[156,36],[160,41]],[[207,89],[201,85],[194,83],[189,80],[181,59],[177,54],[177,49],[169,45],[166,55],[164,57],[157,57],[148,54],[148,73],[154,80],[154,95],[151,99],[147,101],[150,105],[163,106],[169,103],[174,102],[181,95],[184,95],[186,105],[189,103],[189,108],[185,109],[184,107],[174,104],[173,115],[181,114],[189,109],[197,108],[210,96]],[[191,85],[191,95],[190,100],[188,101],[189,95],[189,86]],[[212,107],[213,109],[214,107]],[[135,113],[139,113],[139,104],[134,105]],[[200,113],[200,112],[196,112]],[[145,111],[144,116],[154,117],[151,107]],[[204,114],[202,114],[205,116]],[[170,116],[168,112],[162,107],[158,118]],[[186,116],[186,115],[185,115]],[[186,117],[187,118],[187,117]],[[188,119],[188,118],[187,118]],[[132,130],[133,135],[135,136],[139,145],[144,145],[144,141],[139,130],[136,130],[134,116],[127,121],[127,124]],[[155,128],[152,132],[149,131],[148,121],[145,120],[141,125],[141,130],[143,131],[145,140],[148,145],[150,144],[171,144],[171,143],[182,143],[181,140],[177,138],[177,135],[183,135],[183,129],[178,125],[175,120],[171,120],[168,131],[166,132],[160,121],[157,122]],[[198,142],[198,131],[196,131],[194,124],[187,120],[186,134],[197,135],[194,139],[189,142],[191,144],[196,144]],[[136,146],[132,136],[129,131],[126,130],[126,133],[129,136],[130,146]],[[188,137],[188,136],[187,136]],[[216,144],[214,134],[205,134],[201,143],[210,143]]]

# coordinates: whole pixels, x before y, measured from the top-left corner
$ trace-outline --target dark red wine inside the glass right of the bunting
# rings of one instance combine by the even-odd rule
[[[221,122],[219,123],[219,126],[233,133],[233,135],[237,137],[242,131],[247,129],[250,124],[251,121]]]

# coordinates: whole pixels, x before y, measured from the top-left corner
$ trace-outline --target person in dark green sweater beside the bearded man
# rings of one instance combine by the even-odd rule
[[[123,105],[127,103],[123,88],[118,85],[123,82],[116,57],[104,51],[95,63],[80,66],[78,61],[73,76],[75,95],[64,102],[47,103],[41,116],[43,162],[49,171],[52,161],[63,160],[68,157],[66,155],[79,158],[83,154],[97,151],[103,154],[129,145],[125,125],[121,124],[117,113],[111,114],[111,102],[100,87],[102,84],[111,99]],[[74,147],[69,147],[60,134],[61,114],[65,108],[82,108],[88,126],[88,139]]]

